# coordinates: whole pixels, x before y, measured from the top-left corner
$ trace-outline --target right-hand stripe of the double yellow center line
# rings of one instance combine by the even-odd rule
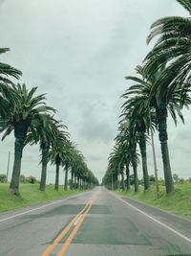
[[[98,194],[98,193],[97,193]],[[74,227],[74,230],[72,231],[72,233],[70,234],[70,236],[68,237],[66,243],[62,246],[61,250],[57,253],[56,256],[63,256],[65,251],[67,250],[68,246],[71,244],[71,242],[73,241],[74,239],[74,235],[75,233],[77,232],[78,228],[80,227],[81,223],[84,221],[86,215],[88,214],[88,212],[90,211],[95,199],[96,199],[96,196],[97,194],[95,195],[94,199],[92,199],[92,202],[91,204],[89,205],[88,209],[86,210],[86,212],[83,214],[82,218],[78,221],[78,223],[76,224],[76,226]]]

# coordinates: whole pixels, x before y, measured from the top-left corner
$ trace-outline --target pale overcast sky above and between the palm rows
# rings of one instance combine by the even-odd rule
[[[0,61],[21,70],[20,83],[46,93],[47,105],[57,109],[82,151],[88,167],[101,181],[117,135],[121,94],[152,47],[146,45],[151,24],[163,16],[188,13],[172,0],[0,0],[0,47],[11,51]],[[172,173],[191,176],[190,110],[185,125],[168,118]],[[155,134],[159,177],[163,178],[158,134]],[[0,143],[0,174],[6,174],[13,135]],[[154,174],[151,145],[147,146],[149,175]],[[22,175],[40,178],[39,147],[27,146]],[[48,165],[47,183],[55,167]],[[138,167],[141,178],[141,167]],[[60,183],[64,172],[60,172]]]

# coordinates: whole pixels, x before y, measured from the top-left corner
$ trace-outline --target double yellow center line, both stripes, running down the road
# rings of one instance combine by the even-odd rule
[[[75,225],[73,231],[71,232],[70,236],[66,240],[65,244],[62,246],[61,250],[57,253],[57,256],[64,255],[66,249],[68,248],[68,246],[73,241],[74,235],[77,232],[79,226],[81,225],[81,223],[83,222],[84,218],[86,217],[86,215],[90,211],[90,209],[91,209],[91,207],[92,207],[92,205],[93,205],[93,203],[94,203],[94,201],[95,201],[95,199],[97,197],[97,194],[98,194],[98,192],[96,192],[96,194],[93,196],[93,198],[91,198],[86,203],[85,207],[74,217],[74,219],[67,225],[67,227],[56,237],[56,239],[53,241],[53,244],[49,245],[49,247],[43,252],[43,254],[41,254],[41,256],[48,256],[48,255],[50,255],[50,253],[53,251],[53,248],[60,242],[61,239],[64,238],[64,236],[69,232],[69,230],[74,225],[74,222],[77,221],[77,219],[83,213],[83,215],[81,216],[79,221],[76,223],[76,225]]]

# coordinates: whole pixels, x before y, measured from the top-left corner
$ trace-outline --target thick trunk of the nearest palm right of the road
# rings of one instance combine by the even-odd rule
[[[167,108],[164,103],[156,109],[158,125],[159,125],[159,141],[162,155],[163,171],[164,171],[164,180],[166,187],[166,194],[169,195],[174,191],[174,183],[170,166],[170,158],[168,152],[168,134],[167,134]]]

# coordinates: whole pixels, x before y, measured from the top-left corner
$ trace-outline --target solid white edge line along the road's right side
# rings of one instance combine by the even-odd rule
[[[129,202],[121,199],[121,198],[118,198],[116,195],[113,195],[115,196],[117,199],[121,200],[122,202],[124,202],[125,204],[127,204],[128,206],[132,207],[133,209],[137,210],[138,212],[140,212],[141,214],[145,215],[146,217],[148,217],[149,219],[151,219],[152,221],[156,221],[157,223],[159,223],[160,225],[164,226],[165,228],[167,228],[168,230],[172,231],[173,233],[175,233],[176,235],[180,236],[180,238],[186,240],[187,242],[191,243],[191,239],[187,238],[186,236],[182,235],[180,232],[178,232],[177,230],[173,229],[172,227],[164,224],[163,222],[161,221],[158,221],[157,219],[151,217],[150,215],[144,213],[143,211],[139,210],[137,207],[133,206],[132,204],[130,204]]]

